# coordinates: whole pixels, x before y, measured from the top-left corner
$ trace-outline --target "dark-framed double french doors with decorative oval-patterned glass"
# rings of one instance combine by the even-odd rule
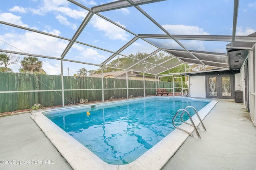
[[[206,76],[206,97],[234,99],[233,75]]]

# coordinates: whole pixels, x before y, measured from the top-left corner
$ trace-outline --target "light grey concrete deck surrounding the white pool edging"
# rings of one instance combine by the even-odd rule
[[[194,133],[188,137],[164,170],[256,169],[256,128],[250,114],[234,100],[218,101],[203,121],[207,131],[200,128],[202,139]],[[15,162],[0,164],[0,169],[72,169],[30,115],[0,117],[0,160]]]

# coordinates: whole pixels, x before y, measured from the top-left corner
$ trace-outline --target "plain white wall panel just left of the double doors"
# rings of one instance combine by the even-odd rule
[[[206,98],[205,76],[190,77],[190,97]]]

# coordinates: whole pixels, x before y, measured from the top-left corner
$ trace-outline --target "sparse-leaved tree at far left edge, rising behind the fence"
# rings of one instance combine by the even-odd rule
[[[0,65],[4,65],[1,67],[0,72],[12,72],[12,69],[7,68],[10,64],[18,63],[20,57],[16,57],[11,53],[0,53]]]

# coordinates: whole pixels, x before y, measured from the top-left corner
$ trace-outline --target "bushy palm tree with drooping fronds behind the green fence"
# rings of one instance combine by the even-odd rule
[[[43,65],[42,61],[38,61],[38,58],[31,56],[24,57],[20,64],[24,70],[30,71],[30,74],[36,71],[40,72]]]

